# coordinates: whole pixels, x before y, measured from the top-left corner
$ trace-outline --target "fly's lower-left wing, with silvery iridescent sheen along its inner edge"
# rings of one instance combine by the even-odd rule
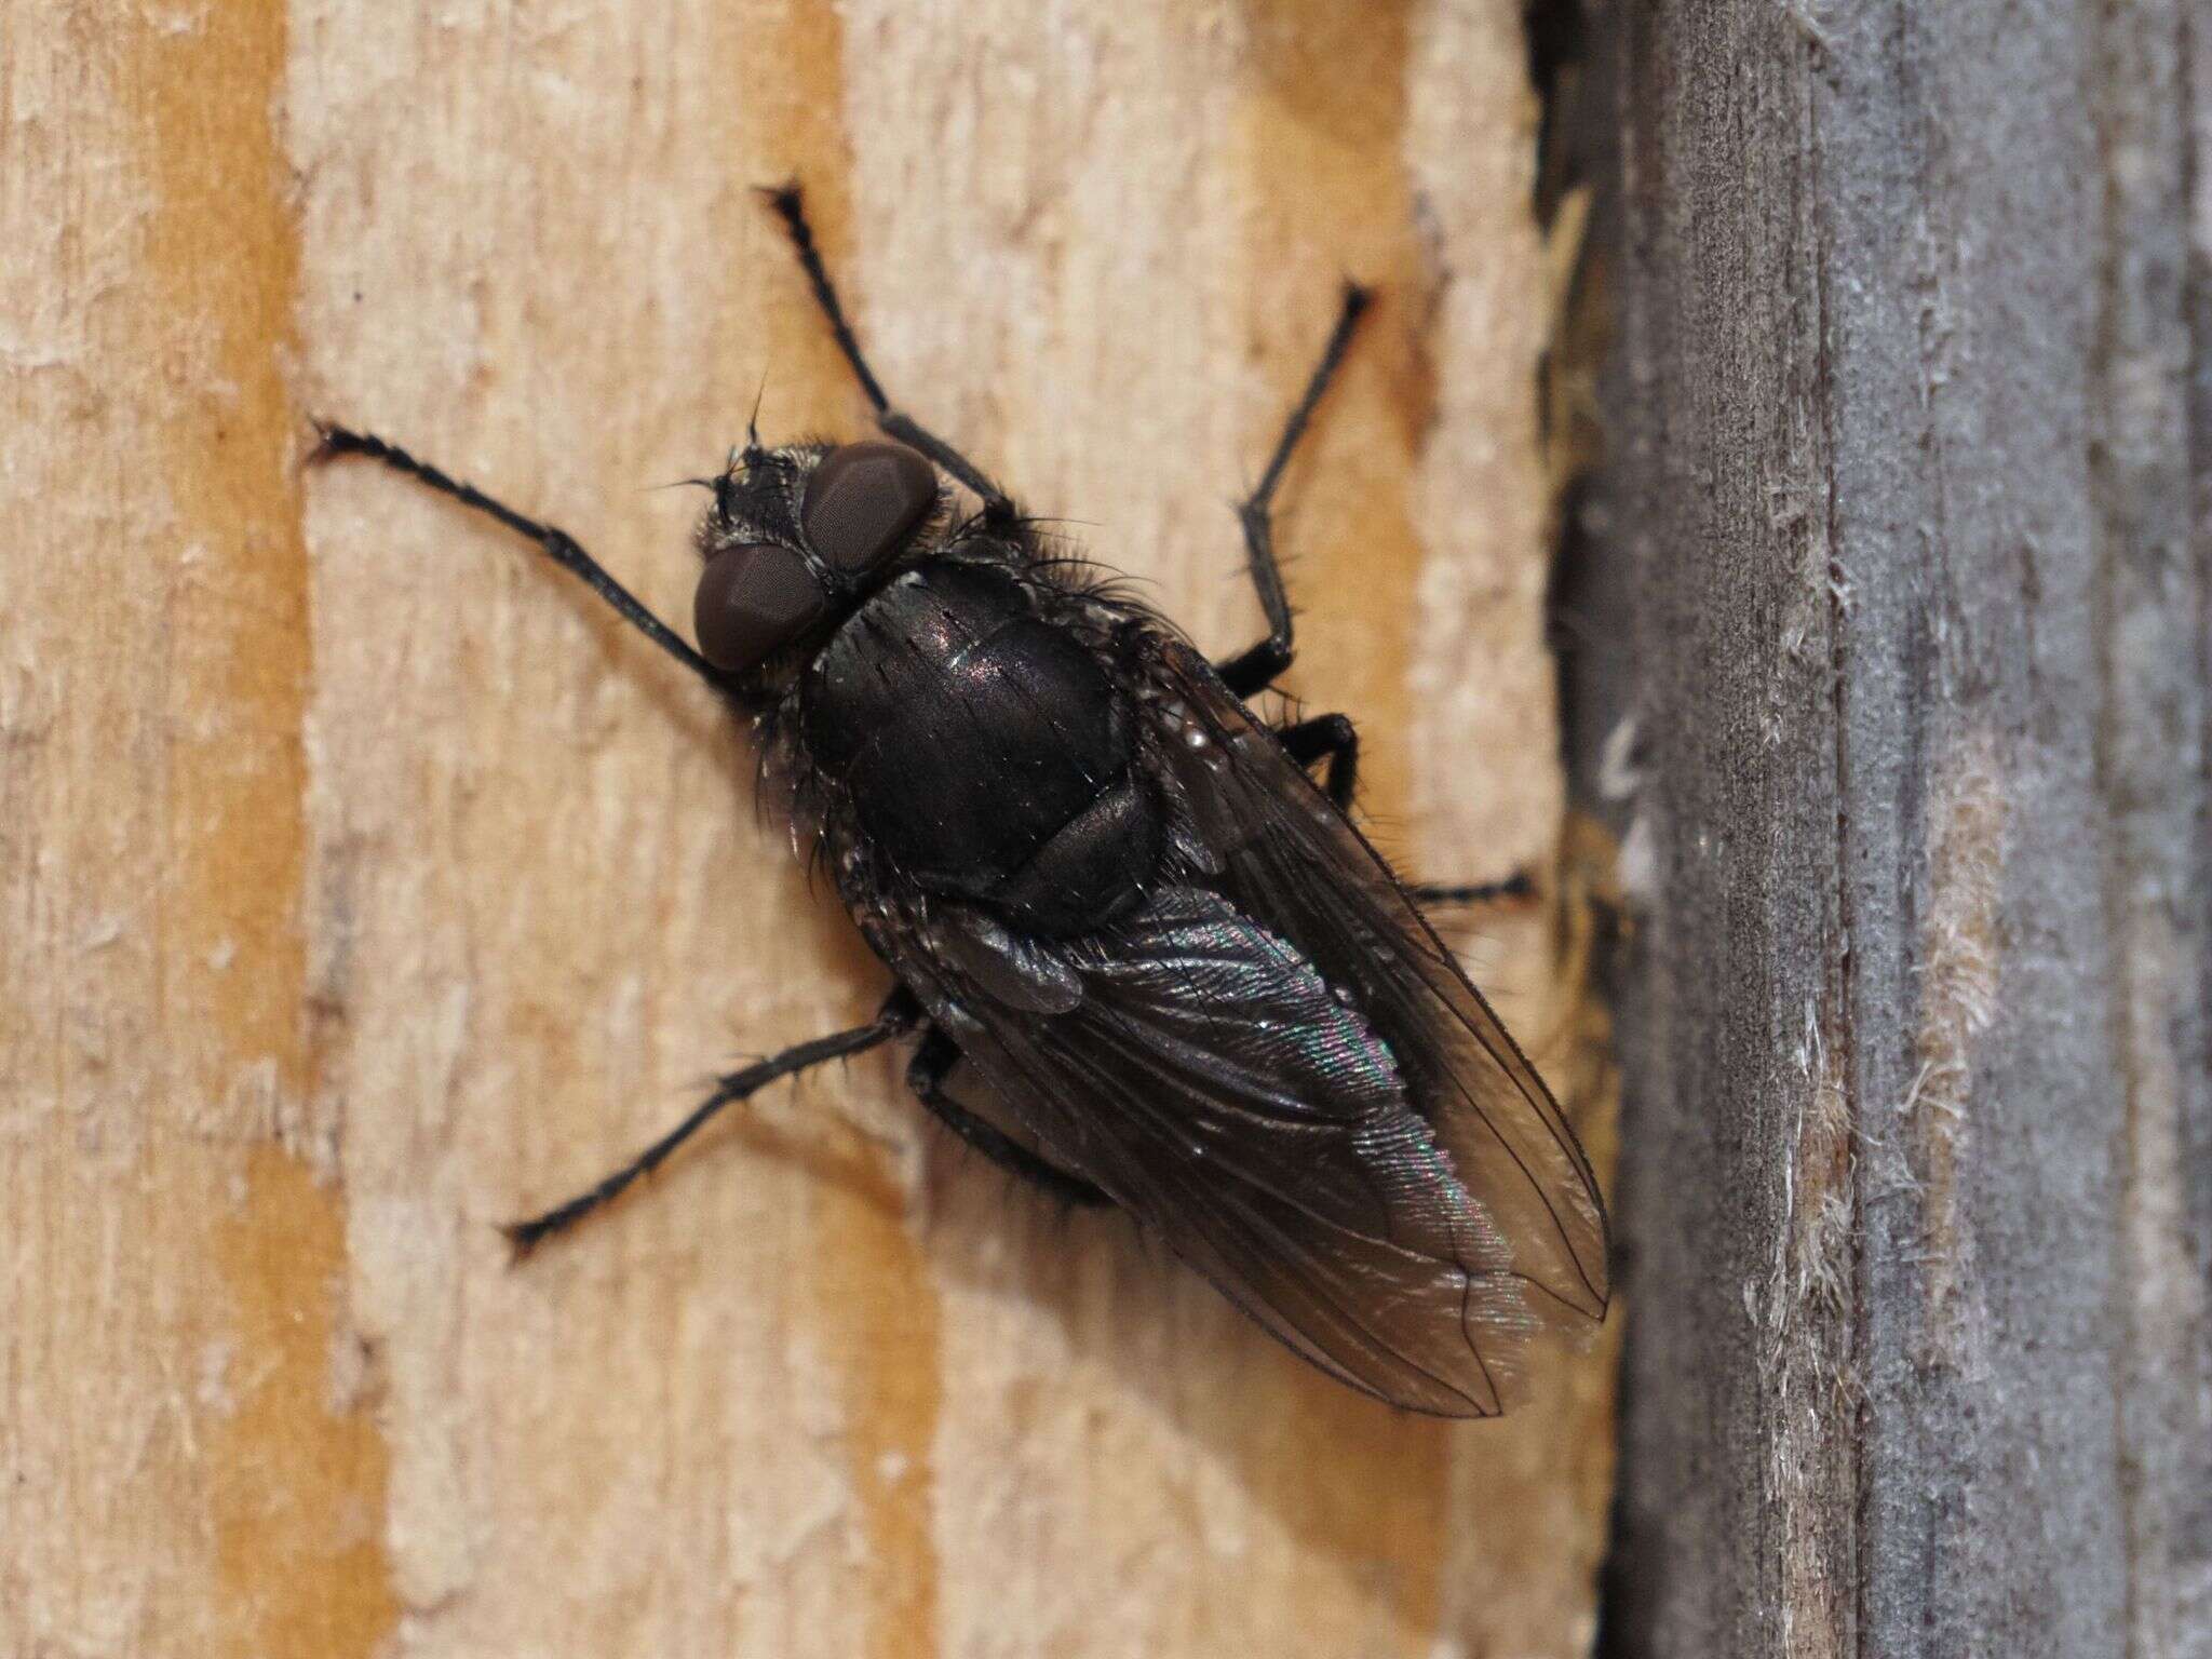
[[[1157,889],[1064,960],[1066,1011],[947,1020],[1000,1108],[1321,1369],[1495,1416],[1535,1318],[1374,1026],[1194,887]],[[929,1000],[975,1011],[960,978]]]

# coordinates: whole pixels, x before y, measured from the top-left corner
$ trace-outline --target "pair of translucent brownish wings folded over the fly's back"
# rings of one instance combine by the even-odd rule
[[[1146,672],[1179,830],[1144,909],[885,953],[1000,1110],[1274,1336],[1396,1405],[1498,1413],[1540,1329],[1604,1314],[1588,1161],[1274,734],[1177,641]]]

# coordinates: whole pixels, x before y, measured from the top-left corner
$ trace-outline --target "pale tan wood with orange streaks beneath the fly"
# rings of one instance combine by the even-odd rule
[[[697,502],[896,396],[1210,648],[1340,274],[1296,690],[1418,874],[1548,872],[1517,9],[44,4],[0,22],[0,1652],[1573,1655],[1610,1376],[1303,1371],[869,1057],[493,1223],[883,975],[703,695],[356,420],[688,617]],[[1584,1117],[1575,916],[1464,931]]]

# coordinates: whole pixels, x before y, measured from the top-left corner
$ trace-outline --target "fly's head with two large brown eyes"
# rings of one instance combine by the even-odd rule
[[[699,524],[699,655],[741,684],[787,681],[942,524],[936,467],[905,445],[748,442]]]

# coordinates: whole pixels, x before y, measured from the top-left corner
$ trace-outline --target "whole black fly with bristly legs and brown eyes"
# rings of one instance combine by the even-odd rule
[[[568,535],[380,438],[383,460],[529,535],[739,714],[898,989],[865,1026],[721,1079],[529,1250],[776,1077],[916,1037],[938,1121],[1071,1203],[1155,1228],[1294,1352],[1394,1405],[1493,1416],[1546,1325],[1606,1312],[1606,1219],[1544,1082],[1345,816],[1343,714],[1245,703],[1292,655],[1270,500],[1367,294],[1241,509],[1267,637],[1206,661],[1048,560],[1013,500],[891,409],[770,192],[883,438],[768,449],[710,480],[692,650]],[[980,509],[953,511],[945,480]],[[1327,761],[1327,783],[1305,768]],[[953,1099],[987,1102],[978,1113]]]

